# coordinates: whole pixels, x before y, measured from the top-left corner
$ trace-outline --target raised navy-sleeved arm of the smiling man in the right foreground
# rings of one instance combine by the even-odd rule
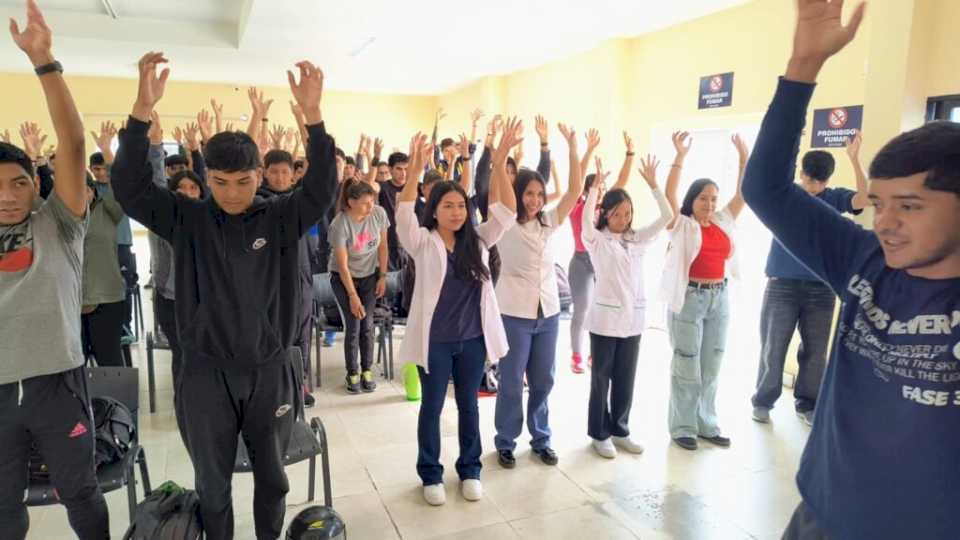
[[[800,135],[824,63],[856,34],[863,4],[841,23],[839,2],[800,0],[793,55],[767,110],[743,180],[743,194],[777,240],[834,291],[843,290],[858,246],[874,235],[794,184]],[[784,211],[789,209],[789,212]]]

